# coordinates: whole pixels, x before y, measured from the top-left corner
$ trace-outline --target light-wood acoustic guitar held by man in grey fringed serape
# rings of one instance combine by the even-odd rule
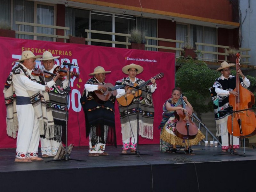
[[[164,73],[159,73],[157,74],[156,76],[152,77],[153,79],[160,79],[164,76]],[[146,86],[147,84],[149,84],[151,81],[150,79],[148,81],[145,81],[143,83],[141,83],[140,85],[134,83],[133,84],[133,87],[129,87],[128,89],[130,89],[130,93],[129,94],[125,94],[123,95],[122,97],[119,97],[119,98],[116,98],[116,100],[118,101],[118,103],[122,106],[128,106],[131,104],[132,100],[135,98],[135,97],[138,97],[141,95],[141,90],[137,91],[137,89],[135,89],[134,87],[136,86],[139,86],[139,89],[143,88],[144,86]],[[119,88],[123,88],[125,86],[125,84],[122,84],[122,85],[118,85],[116,87],[119,87]],[[109,90],[114,90],[116,87],[113,87]],[[118,88],[117,88],[118,89]]]

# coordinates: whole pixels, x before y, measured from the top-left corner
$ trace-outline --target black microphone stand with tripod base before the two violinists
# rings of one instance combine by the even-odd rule
[[[70,64],[70,63],[65,63],[65,65],[68,65],[68,74],[69,74],[69,79],[68,79],[68,87],[65,88],[65,92],[66,92],[66,154],[64,156],[64,158],[62,159],[54,159],[54,160],[50,160],[50,161],[46,161],[46,162],[51,162],[51,161],[61,161],[61,160],[65,160],[65,161],[68,161],[68,160],[74,160],[74,161],[86,161],[86,160],[81,160],[81,159],[72,159],[70,158],[70,154],[68,154],[68,100],[69,100],[69,92],[70,92],[70,69],[71,69],[71,66],[73,64]]]

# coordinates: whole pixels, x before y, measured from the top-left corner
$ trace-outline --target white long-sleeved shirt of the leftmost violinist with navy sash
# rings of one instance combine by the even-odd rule
[[[22,67],[31,75],[33,70],[29,70],[22,63],[20,63],[20,65],[22,65]],[[22,74],[13,75],[12,84],[17,96],[29,97],[27,90],[34,91],[35,93],[38,91],[45,91],[44,85],[31,81],[27,76]]]

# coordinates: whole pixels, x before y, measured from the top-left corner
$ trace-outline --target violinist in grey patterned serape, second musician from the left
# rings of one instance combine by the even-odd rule
[[[45,51],[43,53],[41,60],[44,66],[44,69],[53,73],[55,68],[59,66],[54,64],[54,59],[58,59],[60,56],[53,57],[51,52]],[[59,73],[57,73],[59,76]],[[45,73],[47,75],[47,73]],[[46,131],[51,135],[41,135],[41,152],[42,157],[53,157],[57,154],[58,148],[60,146],[61,141],[65,140],[63,138],[62,133],[65,133],[66,130],[66,92],[64,89],[68,87],[68,79],[69,73],[67,71],[67,76],[62,78],[58,78],[55,83],[52,82],[52,78],[44,78],[46,84],[51,88],[50,92],[50,102],[52,108],[52,116],[54,120],[54,131]],[[53,76],[52,76],[53,77]],[[56,79],[56,77],[54,77]],[[49,138],[49,139],[46,139]]]

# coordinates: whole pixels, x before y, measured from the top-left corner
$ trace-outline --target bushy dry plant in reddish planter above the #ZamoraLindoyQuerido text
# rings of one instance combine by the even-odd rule
[[[132,49],[140,49],[145,50],[145,34],[139,29],[133,28],[130,31],[131,37],[129,37],[129,41],[131,42]]]

